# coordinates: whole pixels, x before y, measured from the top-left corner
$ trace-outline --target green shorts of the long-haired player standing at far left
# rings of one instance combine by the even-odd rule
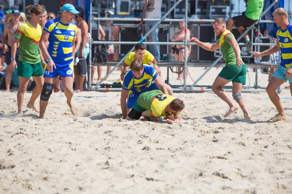
[[[23,63],[18,60],[17,63],[17,75],[24,77],[24,78],[30,78],[32,76],[43,76],[44,71],[41,65],[41,62],[37,64],[28,64],[28,63]]]

